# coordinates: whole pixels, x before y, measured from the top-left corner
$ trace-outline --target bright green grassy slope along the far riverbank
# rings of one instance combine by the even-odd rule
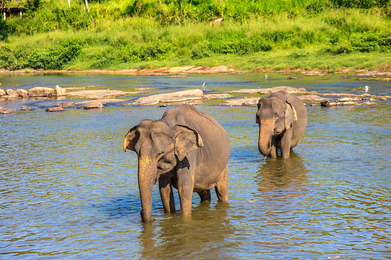
[[[390,70],[391,21],[380,9],[335,9],[328,1],[223,0],[221,8],[204,2],[184,1],[182,11],[175,1],[145,0],[141,7],[134,1],[90,2],[95,27],[82,5],[69,10],[66,1],[47,0],[31,18],[7,21],[13,33],[0,45],[0,67]],[[221,15],[221,24],[213,25]],[[67,40],[80,45],[68,51],[77,53],[48,60],[68,50]],[[50,65],[56,62],[59,67]]]

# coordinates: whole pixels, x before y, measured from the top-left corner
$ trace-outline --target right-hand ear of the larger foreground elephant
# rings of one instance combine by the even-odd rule
[[[198,132],[184,125],[175,125],[175,155],[183,160],[188,153],[204,146]]]

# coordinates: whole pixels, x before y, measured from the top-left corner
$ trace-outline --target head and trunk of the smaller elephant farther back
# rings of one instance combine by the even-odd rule
[[[260,99],[256,123],[260,125],[258,149],[262,155],[270,154],[272,145],[277,146],[273,137],[288,130],[293,121],[297,121],[296,110],[281,93]]]

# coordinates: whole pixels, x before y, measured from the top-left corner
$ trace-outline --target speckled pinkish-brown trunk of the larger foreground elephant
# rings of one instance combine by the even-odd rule
[[[138,188],[141,199],[141,220],[152,221],[152,186],[156,177],[156,167],[149,157],[140,157],[138,160]]]

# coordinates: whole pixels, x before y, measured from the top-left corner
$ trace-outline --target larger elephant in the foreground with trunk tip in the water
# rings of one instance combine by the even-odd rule
[[[192,213],[192,193],[211,200],[228,201],[227,133],[212,117],[192,105],[168,109],[160,120],[143,120],[131,128],[126,149],[137,153],[141,219],[152,221],[152,185],[159,181],[166,212],[175,210],[173,186],[178,190],[181,214]]]

